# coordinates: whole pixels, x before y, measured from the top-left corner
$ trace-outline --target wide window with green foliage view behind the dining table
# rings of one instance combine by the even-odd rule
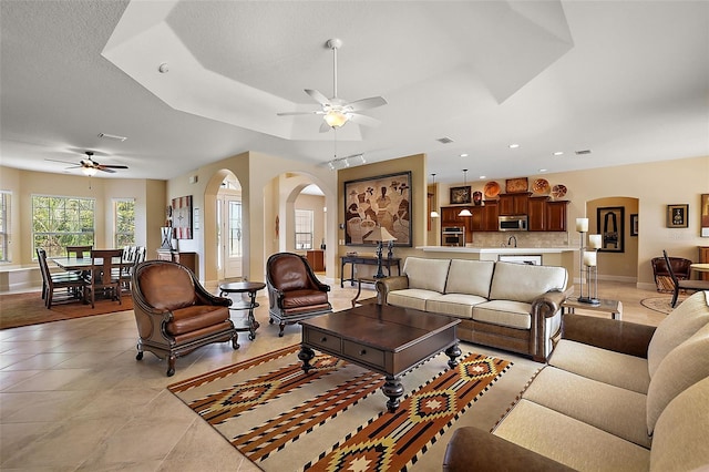
[[[65,255],[66,246],[94,245],[94,198],[32,196],[32,254]]]

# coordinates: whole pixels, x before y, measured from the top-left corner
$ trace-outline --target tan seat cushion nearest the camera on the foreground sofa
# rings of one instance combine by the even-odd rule
[[[650,466],[647,449],[525,399],[494,434],[576,470],[628,472]]]

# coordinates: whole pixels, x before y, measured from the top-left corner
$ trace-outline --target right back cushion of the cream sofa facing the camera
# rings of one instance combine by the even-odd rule
[[[564,267],[495,263],[490,299],[531,304],[547,291],[565,290],[567,280]]]

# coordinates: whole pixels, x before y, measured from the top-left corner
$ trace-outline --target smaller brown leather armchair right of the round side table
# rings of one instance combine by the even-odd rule
[[[269,322],[278,321],[284,336],[286,324],[332,311],[328,301],[330,286],[312,273],[305,257],[292,253],[277,253],[266,261]]]

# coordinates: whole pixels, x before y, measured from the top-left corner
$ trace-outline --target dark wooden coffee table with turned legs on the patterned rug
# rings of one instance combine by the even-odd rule
[[[298,358],[308,372],[314,349],[386,376],[382,387],[394,412],[403,394],[400,378],[430,357],[445,350],[448,366],[458,365],[461,350],[455,332],[460,319],[382,305],[362,305],[300,321],[302,342]]]

